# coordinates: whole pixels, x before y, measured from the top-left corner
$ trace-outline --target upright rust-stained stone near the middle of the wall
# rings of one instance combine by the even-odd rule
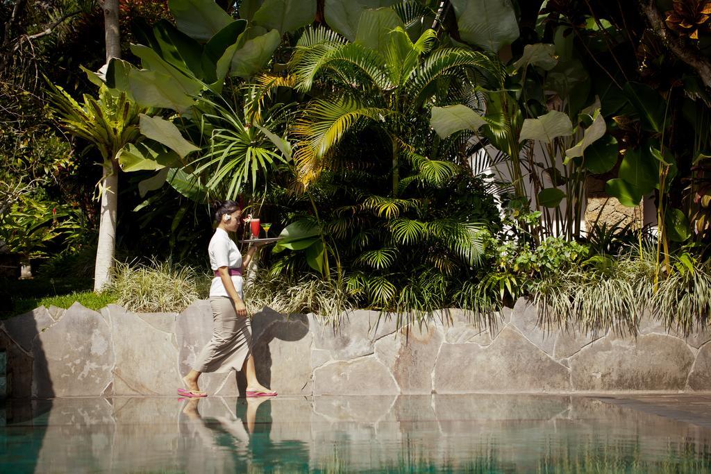
[[[432,393],[432,370],[444,331],[437,323],[415,326],[400,333],[400,350],[390,366],[402,394]]]

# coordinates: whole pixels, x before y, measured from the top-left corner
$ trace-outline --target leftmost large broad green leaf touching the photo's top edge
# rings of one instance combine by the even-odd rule
[[[168,6],[178,30],[202,42],[235,21],[213,0],[169,0]]]

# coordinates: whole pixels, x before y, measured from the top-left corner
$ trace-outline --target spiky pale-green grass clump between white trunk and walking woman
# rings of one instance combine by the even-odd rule
[[[209,288],[210,277],[191,266],[151,260],[148,264],[117,262],[107,291],[115,293],[117,303],[127,311],[178,313],[206,298]]]

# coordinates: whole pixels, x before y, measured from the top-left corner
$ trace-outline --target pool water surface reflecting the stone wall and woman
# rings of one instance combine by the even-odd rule
[[[533,395],[55,399],[0,425],[3,472],[711,472],[711,430]],[[35,446],[30,449],[28,446]]]

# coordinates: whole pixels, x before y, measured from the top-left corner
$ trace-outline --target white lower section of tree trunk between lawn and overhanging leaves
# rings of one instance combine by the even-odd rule
[[[99,224],[99,243],[96,249],[94,291],[102,291],[111,281],[111,270],[114,266],[116,211],[119,201],[119,167],[115,161],[112,161],[109,166],[104,166],[102,185],[101,220]]]

